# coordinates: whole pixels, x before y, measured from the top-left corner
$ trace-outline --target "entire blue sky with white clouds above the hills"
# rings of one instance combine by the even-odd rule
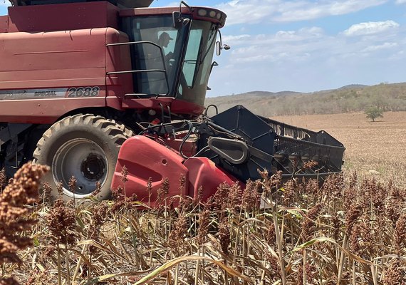
[[[0,15],[6,14],[0,0]],[[406,0],[189,0],[227,14],[208,96],[405,82]],[[155,0],[152,6],[178,6]]]

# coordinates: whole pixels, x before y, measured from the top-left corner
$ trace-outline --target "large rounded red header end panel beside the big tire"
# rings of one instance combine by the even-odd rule
[[[137,195],[137,198],[153,207],[157,202],[157,191],[162,187],[162,180],[169,179],[170,189],[167,197],[187,195],[189,187],[189,172],[183,159],[172,150],[141,135],[129,138],[123,143],[118,154],[112,189],[125,187],[127,196]],[[121,170],[127,167],[128,175],[125,185],[121,181]],[[179,178],[184,177],[181,187]],[[152,190],[147,191],[148,179],[152,179]]]

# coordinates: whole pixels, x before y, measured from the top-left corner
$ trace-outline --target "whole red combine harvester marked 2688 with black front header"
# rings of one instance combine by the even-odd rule
[[[221,182],[325,177],[340,172],[343,145],[318,133],[236,106],[204,115],[207,81],[226,14],[182,1],[10,0],[0,16],[0,166],[7,175],[28,160],[50,165],[53,189],[101,199],[212,195]],[[309,161],[318,162],[303,167]],[[71,177],[77,189],[70,190]],[[152,189],[147,192],[147,182]],[[182,180],[182,181],[181,181]],[[57,196],[57,193],[54,193]]]

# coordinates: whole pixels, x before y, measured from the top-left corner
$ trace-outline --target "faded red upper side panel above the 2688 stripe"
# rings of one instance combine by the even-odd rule
[[[0,33],[0,89],[104,86],[105,31]]]

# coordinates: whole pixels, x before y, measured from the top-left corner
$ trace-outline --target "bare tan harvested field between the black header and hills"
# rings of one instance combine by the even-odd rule
[[[364,113],[272,117],[310,130],[326,130],[343,142],[344,170],[406,186],[406,112],[387,112],[371,122]]]

